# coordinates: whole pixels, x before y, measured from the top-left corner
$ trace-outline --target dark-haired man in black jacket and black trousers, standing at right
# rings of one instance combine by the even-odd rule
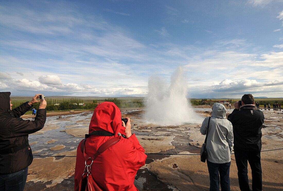
[[[248,162],[252,169],[252,191],[262,190],[261,176],[261,128],[264,120],[262,111],[255,109],[252,94],[242,97],[242,106],[238,101],[235,109],[228,115],[233,125],[234,153],[238,169],[238,180],[241,191],[250,191],[248,184]]]

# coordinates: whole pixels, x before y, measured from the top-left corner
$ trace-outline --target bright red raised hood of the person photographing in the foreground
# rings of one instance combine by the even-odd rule
[[[125,134],[121,111],[113,102],[105,101],[97,105],[89,124],[89,133],[93,131],[108,131],[114,135],[119,132]]]

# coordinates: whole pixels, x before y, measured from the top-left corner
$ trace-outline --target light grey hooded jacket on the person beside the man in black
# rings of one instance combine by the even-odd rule
[[[226,118],[226,108],[221,103],[212,107],[206,143],[207,158],[213,163],[227,163],[231,161],[233,149],[233,126]],[[209,117],[202,122],[200,132],[205,135]]]

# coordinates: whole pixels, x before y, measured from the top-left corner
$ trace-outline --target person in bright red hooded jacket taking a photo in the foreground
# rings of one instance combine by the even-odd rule
[[[126,119],[128,122],[125,125],[121,120],[120,109],[114,103],[107,101],[97,105],[91,118],[89,134],[93,131],[107,131],[113,133],[113,136],[90,135],[85,141],[85,153],[88,157],[92,157],[100,145],[107,140],[113,137],[120,139],[98,155],[91,165],[91,175],[102,190],[138,190],[134,186],[135,175],[145,164],[147,156],[136,135],[131,133],[130,118]],[[125,138],[119,136],[121,134],[125,135]],[[77,149],[75,190],[85,169],[81,144],[82,141]]]

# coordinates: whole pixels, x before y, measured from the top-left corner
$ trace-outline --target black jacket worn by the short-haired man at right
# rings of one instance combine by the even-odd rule
[[[262,111],[254,105],[243,105],[227,118],[233,125],[234,148],[250,152],[261,151]]]

